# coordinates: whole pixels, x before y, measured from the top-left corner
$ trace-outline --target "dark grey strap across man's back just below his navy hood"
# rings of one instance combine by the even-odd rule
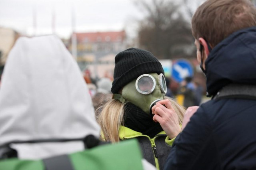
[[[239,98],[256,100],[256,85],[229,84],[224,86],[213,99]]]

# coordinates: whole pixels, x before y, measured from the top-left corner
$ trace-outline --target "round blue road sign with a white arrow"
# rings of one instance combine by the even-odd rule
[[[193,74],[193,67],[187,60],[180,59],[173,63],[172,77],[175,81],[181,82],[185,77]]]

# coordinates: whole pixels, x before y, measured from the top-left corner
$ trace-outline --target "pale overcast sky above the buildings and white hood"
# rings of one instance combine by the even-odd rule
[[[143,12],[140,12],[134,1],[0,0],[0,26],[28,35],[51,34],[55,18],[55,33],[67,38],[72,32],[74,9],[76,32],[132,30],[135,29],[136,20],[143,18]]]

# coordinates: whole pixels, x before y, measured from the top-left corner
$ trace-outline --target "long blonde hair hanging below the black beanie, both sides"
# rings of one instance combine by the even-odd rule
[[[179,117],[179,124],[181,125],[185,108],[180,106],[170,97],[164,97],[164,99],[170,100],[174,111]],[[124,121],[124,103],[121,103],[119,100],[112,99],[98,109],[102,110],[96,117],[102,130],[102,139],[112,143],[119,142],[119,127]]]

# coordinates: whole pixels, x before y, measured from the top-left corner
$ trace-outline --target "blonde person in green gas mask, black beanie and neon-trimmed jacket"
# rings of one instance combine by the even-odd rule
[[[118,53],[111,88],[113,99],[102,106],[97,117],[102,138],[112,143],[137,138],[143,157],[157,169],[163,169],[172,141],[181,130],[185,112],[182,106],[165,97],[166,91],[163,67],[152,53],[137,48]],[[162,100],[171,103],[162,105],[174,120],[169,136],[153,120],[152,107]]]

